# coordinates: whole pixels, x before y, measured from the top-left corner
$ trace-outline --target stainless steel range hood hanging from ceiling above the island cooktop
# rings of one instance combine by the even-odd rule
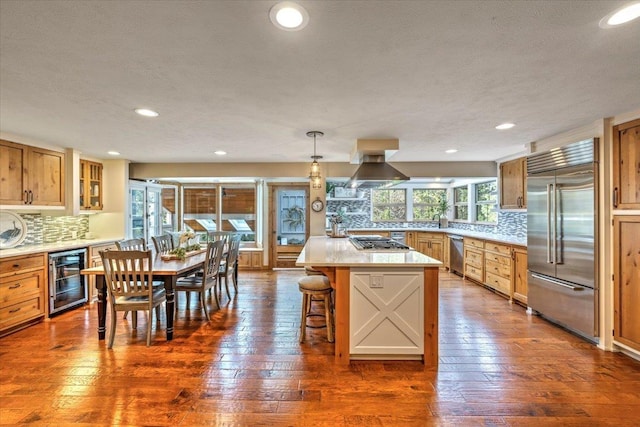
[[[377,188],[408,181],[408,176],[386,162],[387,155],[396,152],[398,148],[397,139],[358,139],[351,163],[359,163],[360,166],[347,187]]]

